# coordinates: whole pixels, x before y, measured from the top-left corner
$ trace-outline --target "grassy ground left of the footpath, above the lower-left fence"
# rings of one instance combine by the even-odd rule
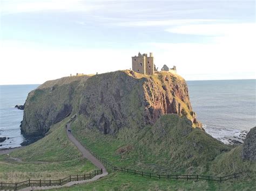
[[[96,167],[73,145],[65,132],[66,120],[52,126],[49,135],[38,142],[0,155],[0,181],[19,182],[28,179],[59,179],[84,174]]]

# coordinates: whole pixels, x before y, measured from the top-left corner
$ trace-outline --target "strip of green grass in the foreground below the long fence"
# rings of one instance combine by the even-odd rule
[[[104,178],[84,185],[65,187],[59,190],[255,190],[254,182],[243,181],[170,181],[149,179],[133,174],[111,173]]]

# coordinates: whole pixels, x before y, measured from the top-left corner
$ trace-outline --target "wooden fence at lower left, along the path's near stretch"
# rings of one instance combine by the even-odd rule
[[[87,180],[91,179],[94,176],[98,174],[102,174],[102,170],[97,170],[94,173],[89,174],[77,174],[77,175],[69,175],[63,179],[58,180],[26,180],[23,182],[16,182],[16,183],[5,183],[0,182],[0,189],[21,189],[29,186],[59,186],[59,185],[65,185],[65,183],[71,182],[71,181],[78,181],[78,180]]]

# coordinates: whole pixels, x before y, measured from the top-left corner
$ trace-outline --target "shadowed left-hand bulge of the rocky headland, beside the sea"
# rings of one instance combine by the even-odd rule
[[[31,91],[26,99],[21,131],[24,137],[42,138],[52,124],[62,121],[73,110],[76,89],[89,76],[63,77],[47,81]]]

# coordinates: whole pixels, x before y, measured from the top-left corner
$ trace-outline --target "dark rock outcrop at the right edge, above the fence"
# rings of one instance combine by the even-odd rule
[[[242,145],[241,157],[242,159],[256,161],[256,126],[246,135]]]

